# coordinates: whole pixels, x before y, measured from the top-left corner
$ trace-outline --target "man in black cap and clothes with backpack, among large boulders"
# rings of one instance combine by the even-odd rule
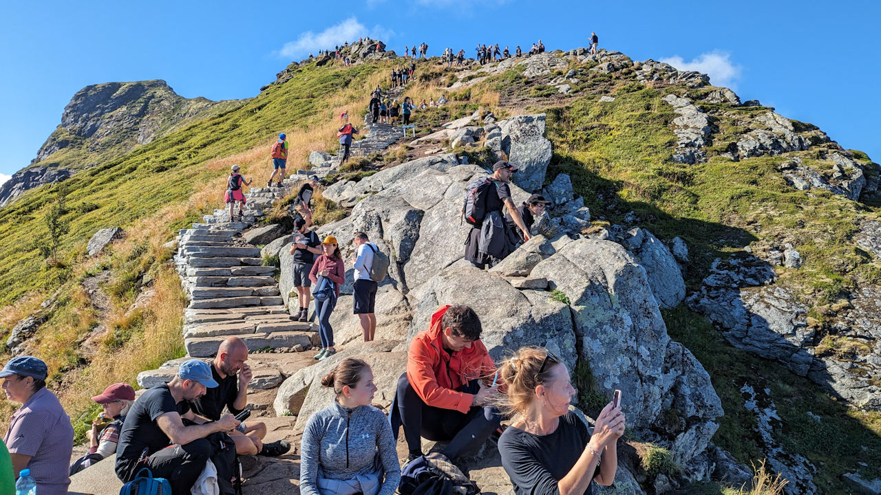
[[[508,182],[517,171],[515,166],[507,161],[499,160],[492,166],[492,175],[488,178],[477,178],[472,181],[489,180],[492,184],[486,192],[486,213],[478,225],[472,225],[465,240],[465,261],[474,267],[483,270],[492,268],[498,262],[505,259],[511,253],[516,244],[515,233],[507,228],[505,217],[502,216],[502,208],[507,207],[522,232],[522,239],[529,240],[529,228],[523,223],[520,212],[517,211],[514,201],[511,199],[511,188]],[[471,184],[469,185],[469,188]],[[468,192],[466,191],[466,196]],[[463,206],[464,213],[464,206]]]

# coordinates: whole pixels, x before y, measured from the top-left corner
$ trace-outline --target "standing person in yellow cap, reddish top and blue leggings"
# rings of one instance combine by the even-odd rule
[[[318,316],[318,336],[322,340],[322,350],[315,354],[319,361],[329,358],[337,353],[333,341],[333,328],[330,326],[330,314],[337,307],[339,288],[345,284],[345,266],[343,256],[340,255],[337,238],[329,235],[322,242],[322,255],[318,256],[312,270],[309,271],[309,280],[315,284],[315,291],[323,291],[323,284],[330,283],[332,290],[327,297],[319,297],[315,292],[315,315]],[[319,283],[318,277],[322,277]]]

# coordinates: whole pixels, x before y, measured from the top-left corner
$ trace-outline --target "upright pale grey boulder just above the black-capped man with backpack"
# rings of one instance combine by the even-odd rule
[[[499,122],[501,149],[517,166],[514,183],[530,193],[542,187],[553,154],[551,141],[544,138],[544,119],[544,114],[519,115]]]

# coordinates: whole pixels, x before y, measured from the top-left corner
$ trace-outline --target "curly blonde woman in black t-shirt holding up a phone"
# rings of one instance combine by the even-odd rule
[[[625,428],[620,407],[607,404],[590,434],[569,410],[575,389],[566,365],[542,348],[517,351],[500,376],[507,385],[501,407],[514,422],[501,434],[499,453],[515,495],[590,495],[592,480],[615,482],[616,445]]]

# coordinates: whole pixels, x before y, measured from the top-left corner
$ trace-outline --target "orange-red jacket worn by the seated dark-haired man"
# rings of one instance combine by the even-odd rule
[[[407,353],[407,380],[427,405],[468,412],[474,395],[455,389],[476,378],[492,380],[496,367],[480,340],[452,355],[443,350],[441,317],[448,307],[440,307],[428,329],[413,337]]]

